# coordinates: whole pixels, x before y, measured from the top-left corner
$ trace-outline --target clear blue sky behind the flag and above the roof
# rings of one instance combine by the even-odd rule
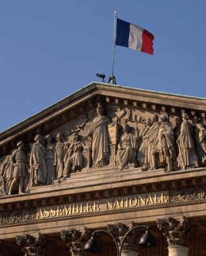
[[[206,98],[205,0],[1,0],[0,132],[112,75],[114,10],[154,34],[115,47],[120,86]]]

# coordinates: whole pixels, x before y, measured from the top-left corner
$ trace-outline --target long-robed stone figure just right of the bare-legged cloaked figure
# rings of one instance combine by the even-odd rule
[[[180,137],[178,138],[179,156],[177,158],[181,169],[192,169],[198,167],[198,157],[194,151],[194,141],[192,139],[193,126],[188,121],[187,113],[182,115]]]

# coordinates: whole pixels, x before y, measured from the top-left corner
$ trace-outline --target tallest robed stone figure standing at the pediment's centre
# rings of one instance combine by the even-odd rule
[[[110,119],[104,115],[101,103],[96,108],[98,117],[92,121],[92,127],[84,139],[92,137],[92,161],[93,167],[103,167],[108,164],[108,122]]]

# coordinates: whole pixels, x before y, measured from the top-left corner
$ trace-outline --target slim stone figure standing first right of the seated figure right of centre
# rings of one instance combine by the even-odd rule
[[[141,163],[141,170],[149,169],[149,154],[147,149],[149,129],[151,126],[151,119],[147,119],[145,128],[141,134],[141,146],[138,151],[138,161]]]

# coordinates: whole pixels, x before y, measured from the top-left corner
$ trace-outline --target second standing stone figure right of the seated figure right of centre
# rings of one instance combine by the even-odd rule
[[[158,121],[159,117],[157,114],[152,115],[152,125],[150,126],[150,129],[148,131],[148,143],[147,143],[147,151],[148,151],[148,156],[149,156],[149,163],[148,165],[150,168],[152,168],[152,149],[153,146],[156,144],[156,139],[158,137],[158,132],[160,128],[160,122]],[[160,160],[156,159],[156,167],[160,167]]]

